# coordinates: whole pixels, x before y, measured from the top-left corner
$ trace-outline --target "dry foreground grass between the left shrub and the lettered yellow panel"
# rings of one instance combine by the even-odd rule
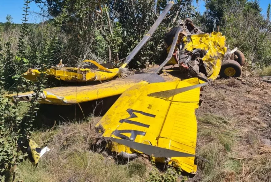
[[[119,165],[114,157],[91,151],[97,137],[94,125],[99,119],[91,117],[89,122],[69,123],[34,133],[38,145],[47,145],[51,151],[40,159],[39,168],[34,168],[28,160],[23,162],[22,179],[26,182],[125,182],[147,178],[149,169],[140,159]]]

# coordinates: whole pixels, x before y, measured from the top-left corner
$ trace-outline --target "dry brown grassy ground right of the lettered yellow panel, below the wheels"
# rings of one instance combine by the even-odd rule
[[[271,83],[217,79],[201,92],[198,174],[191,181],[271,181]]]

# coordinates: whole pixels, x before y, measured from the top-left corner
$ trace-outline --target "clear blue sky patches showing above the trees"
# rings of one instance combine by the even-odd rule
[[[263,9],[262,14],[266,15],[266,9],[269,3],[271,3],[270,0],[260,0],[260,6]],[[6,15],[10,14],[13,18],[14,23],[21,23],[22,14],[23,14],[23,0],[0,0],[0,22],[6,22]],[[199,3],[196,4],[196,0],[194,0],[193,3],[196,7],[198,7],[197,10],[200,11],[200,13],[204,12],[205,10],[205,3],[203,0],[199,0]],[[42,17],[39,17],[37,14],[34,14],[34,12],[39,12],[38,6],[34,3],[30,3],[30,16],[29,16],[29,23],[38,23],[42,21]]]

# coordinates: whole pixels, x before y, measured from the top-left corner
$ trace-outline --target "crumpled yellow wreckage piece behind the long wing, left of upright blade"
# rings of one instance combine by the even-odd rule
[[[45,71],[47,76],[54,77],[61,81],[67,82],[87,82],[87,81],[103,81],[110,80],[119,73],[118,68],[105,68],[99,63],[87,60],[93,63],[98,69],[93,68],[72,68],[72,67],[51,67]],[[37,69],[29,69],[22,77],[36,81],[40,77],[41,72]]]

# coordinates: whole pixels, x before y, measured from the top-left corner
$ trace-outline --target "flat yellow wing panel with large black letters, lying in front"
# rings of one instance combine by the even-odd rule
[[[103,132],[103,137],[132,140],[133,144],[148,144],[186,153],[187,156],[169,156],[170,159],[160,157],[166,154],[153,156],[155,161],[181,167],[189,173],[196,172],[195,109],[199,104],[200,86],[203,86],[200,83],[207,84],[198,78],[191,78],[135,85],[119,97],[96,128]],[[144,152],[118,142],[111,142],[108,146],[119,153]]]

